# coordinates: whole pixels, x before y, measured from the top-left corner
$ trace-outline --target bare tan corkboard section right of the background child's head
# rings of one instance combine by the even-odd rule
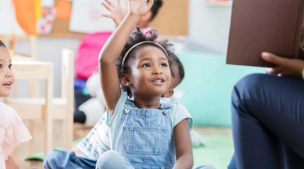
[[[189,0],[163,0],[162,8],[149,24],[160,35],[188,36]]]

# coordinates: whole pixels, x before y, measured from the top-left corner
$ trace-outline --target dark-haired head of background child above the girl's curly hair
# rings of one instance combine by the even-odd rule
[[[159,9],[162,7],[162,0],[154,0],[153,5],[144,16],[140,19],[138,22],[138,26],[140,28],[144,28],[148,25],[149,22],[151,22],[155,16],[158,14]]]

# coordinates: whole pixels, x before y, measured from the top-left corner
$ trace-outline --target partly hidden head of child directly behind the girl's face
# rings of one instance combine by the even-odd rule
[[[162,95],[162,97],[172,97],[173,89],[178,86],[185,77],[184,66],[178,57],[173,54],[173,56],[169,57],[169,59],[169,62],[171,63],[170,68],[172,70],[171,84],[169,89]]]

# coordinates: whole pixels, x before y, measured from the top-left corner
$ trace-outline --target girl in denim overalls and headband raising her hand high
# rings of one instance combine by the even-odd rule
[[[181,104],[159,103],[170,86],[168,55],[173,45],[151,41],[155,31],[148,32],[150,36],[139,28],[132,33],[152,4],[153,0],[129,0],[129,13],[100,52],[111,151],[99,157],[97,169],[193,167],[192,117]],[[134,101],[128,99],[132,96]]]

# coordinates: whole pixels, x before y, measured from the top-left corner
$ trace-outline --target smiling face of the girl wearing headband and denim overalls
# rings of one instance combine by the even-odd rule
[[[161,95],[171,82],[171,72],[166,54],[154,46],[140,47],[133,53],[130,73],[124,74],[122,82],[136,95]]]

